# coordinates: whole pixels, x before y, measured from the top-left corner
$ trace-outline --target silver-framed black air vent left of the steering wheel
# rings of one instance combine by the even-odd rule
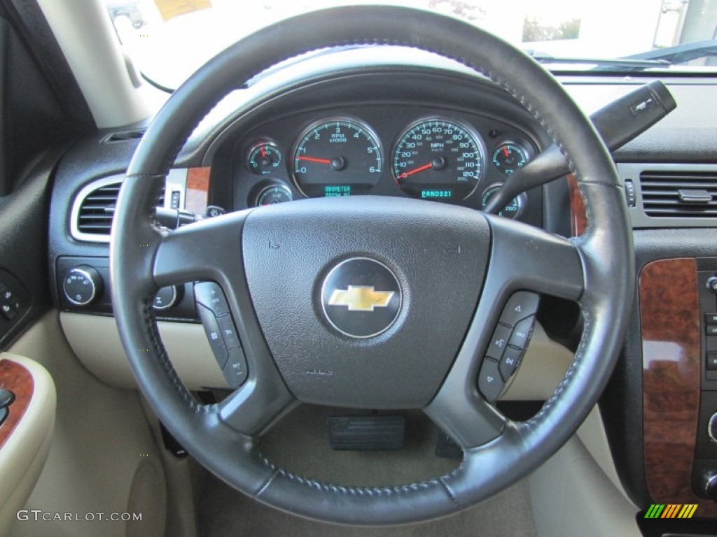
[[[80,192],[73,211],[72,232],[75,238],[88,241],[108,241],[112,230],[117,198],[122,186],[122,175],[96,181]],[[165,188],[157,198],[157,205],[164,205]]]

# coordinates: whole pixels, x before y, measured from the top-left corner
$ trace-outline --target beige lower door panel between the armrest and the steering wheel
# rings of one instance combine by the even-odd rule
[[[96,351],[103,352],[98,342]],[[57,416],[47,463],[24,505],[39,520],[15,521],[10,536],[163,533],[166,485],[158,447],[134,390],[118,390],[82,367],[52,311],[11,352],[40,362],[57,389]],[[138,513],[141,522],[100,520],[97,513]],[[44,521],[42,516],[52,518]],[[70,513],[72,520],[65,520]],[[94,520],[89,521],[90,514]],[[60,515],[60,520],[57,520]]]

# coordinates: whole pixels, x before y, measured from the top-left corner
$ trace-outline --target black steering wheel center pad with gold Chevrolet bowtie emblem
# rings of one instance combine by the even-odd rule
[[[470,325],[489,251],[480,212],[401,198],[272,205],[242,230],[277,367],[295,397],[320,405],[427,405]]]

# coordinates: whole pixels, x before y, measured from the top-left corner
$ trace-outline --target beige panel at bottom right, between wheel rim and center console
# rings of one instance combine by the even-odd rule
[[[579,437],[536,470],[528,485],[538,537],[640,537],[637,508],[619,493]]]

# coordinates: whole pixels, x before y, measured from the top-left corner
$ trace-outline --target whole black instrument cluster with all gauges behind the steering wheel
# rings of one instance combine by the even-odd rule
[[[489,116],[380,106],[298,113],[254,127],[234,151],[234,208],[297,198],[402,195],[481,209],[536,142]],[[503,209],[518,218],[521,194]]]

